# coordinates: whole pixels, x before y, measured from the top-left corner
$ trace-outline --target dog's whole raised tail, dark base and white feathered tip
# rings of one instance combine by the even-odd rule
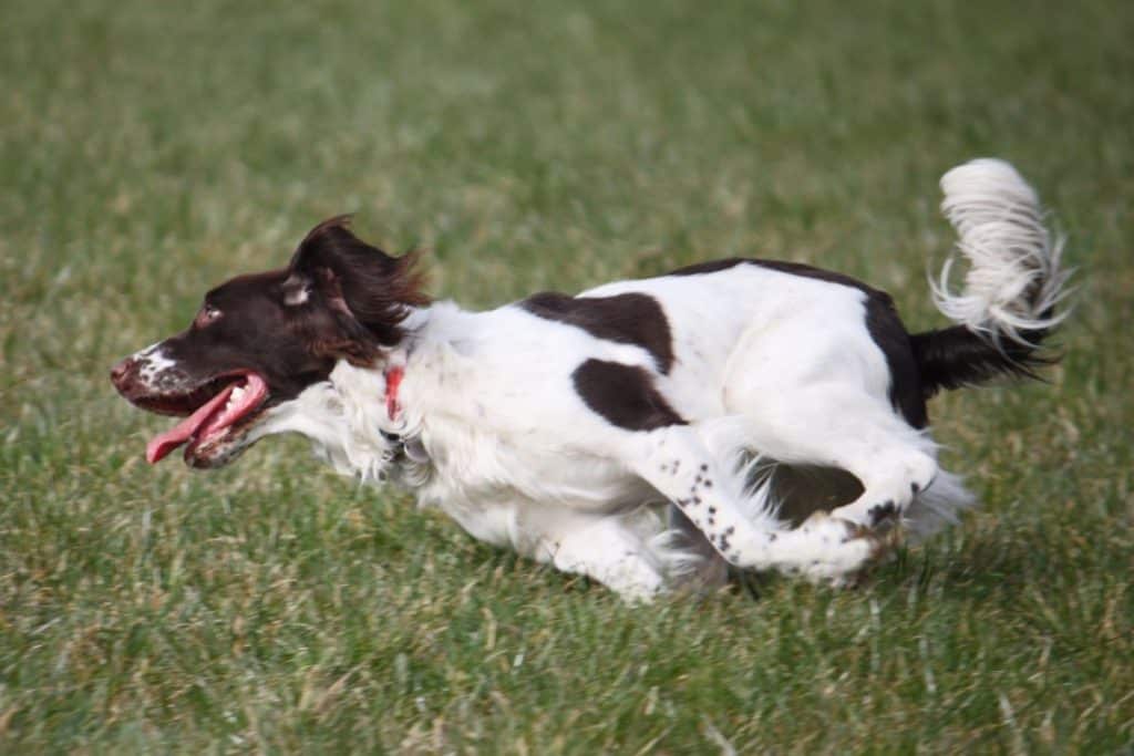
[[[941,178],[941,212],[970,263],[959,292],[949,284],[956,256],[936,281],[933,299],[951,328],[911,335],[925,398],[997,375],[1036,377],[1053,362],[1040,343],[1066,317],[1056,306],[1070,275],[1059,266],[1035,192],[1002,160],[974,160]]]

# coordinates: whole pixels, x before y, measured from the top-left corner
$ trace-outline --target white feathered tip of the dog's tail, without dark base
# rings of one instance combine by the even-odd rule
[[[936,281],[933,300],[950,320],[1001,347],[1008,338],[1034,346],[1033,334],[1065,316],[1055,306],[1070,275],[1060,270],[1063,239],[1052,241],[1035,190],[1002,160],[974,160],[941,177],[941,212],[957,230],[957,249],[971,264],[954,294],[950,257]]]

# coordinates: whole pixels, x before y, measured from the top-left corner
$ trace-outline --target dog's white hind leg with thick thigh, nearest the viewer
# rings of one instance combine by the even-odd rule
[[[745,418],[750,449],[855,476],[861,495],[831,515],[874,527],[900,518],[933,482],[936,445],[895,408],[892,373],[865,315],[848,315],[806,311],[754,329],[729,364],[725,406]]]

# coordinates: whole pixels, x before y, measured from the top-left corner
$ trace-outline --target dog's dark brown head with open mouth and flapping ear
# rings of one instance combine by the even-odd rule
[[[325,381],[340,359],[373,366],[426,304],[413,254],[391,257],[332,218],[286,269],[240,275],[209,291],[189,328],[122,359],[110,373],[126,399],[185,417],[154,436],[156,462],[181,444],[194,467],[220,467],[261,434],[265,415]]]

